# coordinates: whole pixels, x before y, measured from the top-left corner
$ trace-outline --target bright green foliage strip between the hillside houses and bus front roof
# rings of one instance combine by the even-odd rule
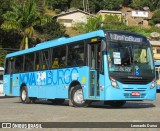
[[[80,30],[81,33],[91,32],[98,29],[105,29],[126,30],[149,36],[152,32],[160,32],[160,30],[155,27],[144,28],[141,26],[127,26],[118,18],[117,15],[106,15],[103,21],[101,16],[89,17],[87,23],[78,23],[76,28]]]

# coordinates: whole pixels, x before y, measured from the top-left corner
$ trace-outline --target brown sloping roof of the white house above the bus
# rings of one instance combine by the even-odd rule
[[[57,17],[59,17],[59,16],[64,16],[64,15],[68,15],[68,14],[73,14],[73,13],[76,13],[76,12],[81,12],[81,13],[86,14],[86,15],[94,16],[94,15],[88,13],[88,12],[85,12],[85,11],[83,11],[83,10],[77,9],[77,10],[72,10],[72,11],[68,11],[68,12],[61,12],[60,14],[55,15],[55,16],[53,16],[52,18],[57,18]]]

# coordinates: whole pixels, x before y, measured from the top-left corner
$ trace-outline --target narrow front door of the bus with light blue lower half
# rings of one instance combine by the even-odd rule
[[[89,97],[93,99],[99,98],[99,71],[98,71],[98,54],[99,46],[98,43],[88,44],[88,62],[90,67],[90,87]]]

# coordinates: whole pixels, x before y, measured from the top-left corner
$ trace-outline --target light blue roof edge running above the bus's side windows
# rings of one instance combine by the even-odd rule
[[[66,43],[72,43],[72,42],[76,42],[76,41],[79,41],[79,40],[85,40],[85,39],[89,39],[89,38],[93,38],[93,37],[104,37],[104,36],[105,36],[104,31],[103,30],[98,30],[98,31],[94,31],[94,32],[70,37],[70,38],[61,37],[61,38],[58,38],[58,39],[55,39],[55,40],[42,42],[40,44],[37,44],[35,47],[29,48],[29,49],[26,49],[26,50],[21,50],[21,51],[17,51],[17,52],[14,52],[14,53],[7,54],[6,57],[13,57],[13,56],[33,52],[33,51],[47,49],[47,48],[50,48],[50,47],[53,47],[53,46],[63,45],[63,44],[66,44]]]

